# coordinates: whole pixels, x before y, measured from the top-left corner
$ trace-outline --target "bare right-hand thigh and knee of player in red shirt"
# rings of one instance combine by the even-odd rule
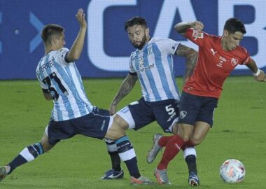
[[[198,121],[195,123],[194,131],[191,137],[191,141],[194,145],[200,144],[206,137],[211,125],[209,123]]]

